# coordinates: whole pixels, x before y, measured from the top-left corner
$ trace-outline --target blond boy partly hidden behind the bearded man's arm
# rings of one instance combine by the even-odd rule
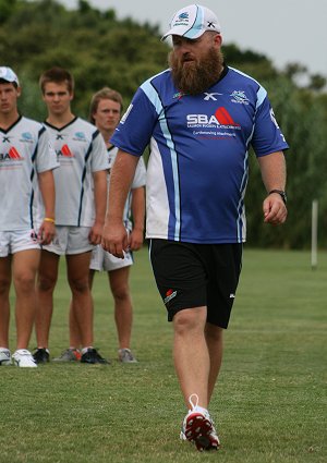
[[[118,149],[109,142],[119,121],[123,109],[123,100],[120,93],[105,87],[97,92],[90,101],[89,120],[100,131],[109,156],[110,169],[113,166]],[[108,182],[110,179],[108,169]],[[146,169],[143,158],[140,159],[135,176],[131,186],[129,198],[124,208],[124,224],[131,236],[129,251],[124,258],[120,259],[106,252],[101,245],[95,247],[92,253],[89,267],[89,285],[93,287],[96,271],[107,271],[109,285],[114,301],[114,321],[118,333],[118,360],[122,363],[136,363],[136,357],[131,351],[131,334],[133,324],[133,306],[129,285],[130,267],[133,265],[132,252],[141,248],[144,240],[145,216],[145,182]],[[133,222],[130,219],[132,211]],[[73,305],[70,316],[70,349],[55,358],[57,362],[76,361],[77,348],[81,343],[77,324],[74,317]]]

